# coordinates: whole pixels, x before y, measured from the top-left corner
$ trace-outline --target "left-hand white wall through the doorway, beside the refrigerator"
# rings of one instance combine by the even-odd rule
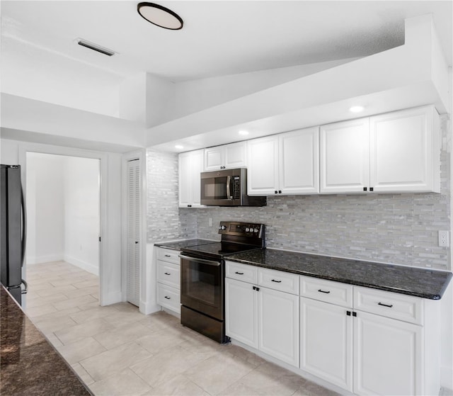
[[[64,157],[27,154],[27,264],[64,256]]]

